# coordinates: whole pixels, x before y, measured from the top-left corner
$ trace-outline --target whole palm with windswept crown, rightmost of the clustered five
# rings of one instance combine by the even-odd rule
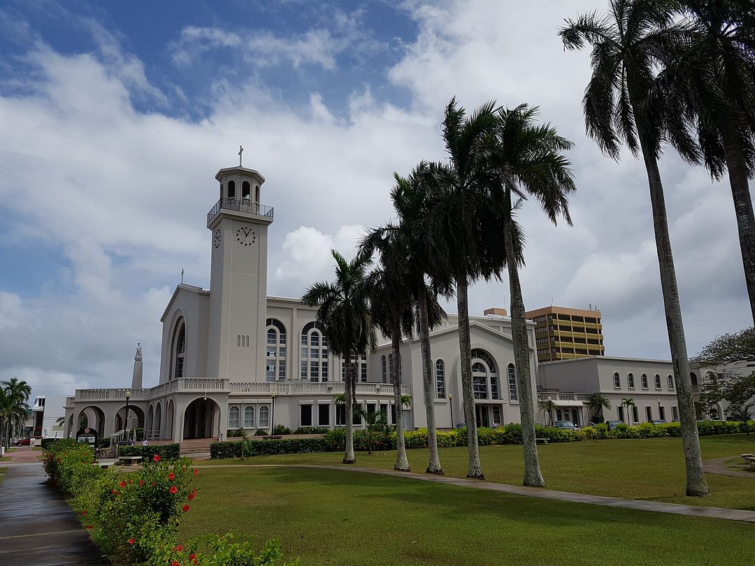
[[[490,192],[489,205],[498,211],[504,234],[505,262],[511,295],[511,337],[519,389],[519,415],[522,422],[525,485],[545,484],[540,471],[535,442],[535,404],[530,374],[530,345],[525,322],[519,266],[524,265],[524,235],[516,219],[516,210],[529,196],[540,202],[552,223],[563,217],[569,226],[568,195],[575,192],[569,160],[562,152],[572,142],[559,136],[550,125],[535,125],[538,107],[526,104],[514,109],[498,110],[498,128],[490,165],[497,182]]]

